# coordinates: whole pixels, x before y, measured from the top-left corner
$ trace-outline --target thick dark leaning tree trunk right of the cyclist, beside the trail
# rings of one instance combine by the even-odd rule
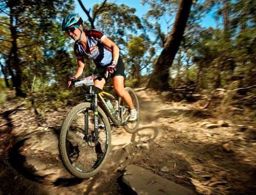
[[[172,32],[167,38],[163,51],[154,65],[153,73],[147,84],[148,88],[158,89],[161,91],[165,91],[169,88],[169,69],[172,66],[172,62],[177,51],[179,50],[191,5],[192,0],[181,0]]]

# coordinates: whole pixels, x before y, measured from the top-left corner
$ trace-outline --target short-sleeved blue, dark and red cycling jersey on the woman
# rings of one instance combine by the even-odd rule
[[[75,41],[74,51],[77,57],[83,56],[88,60],[93,60],[97,66],[109,65],[112,60],[112,50],[102,44],[106,35],[102,32],[92,29],[84,31],[87,38],[86,49],[82,44]]]

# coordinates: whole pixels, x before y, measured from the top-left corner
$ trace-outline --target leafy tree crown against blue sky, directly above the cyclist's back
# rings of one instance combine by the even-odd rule
[[[138,33],[143,26],[136,9],[125,4],[116,4],[104,0],[100,4],[94,4],[92,10],[87,10],[82,2],[79,4],[86,13],[89,21],[89,28],[96,28],[111,38],[121,50],[127,47],[128,34]]]

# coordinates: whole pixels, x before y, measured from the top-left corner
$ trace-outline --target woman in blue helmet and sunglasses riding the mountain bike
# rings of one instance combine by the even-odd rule
[[[84,58],[93,60],[96,65],[94,73],[100,73],[102,80],[95,80],[94,85],[103,89],[106,79],[111,73],[113,87],[122,100],[130,108],[129,121],[137,119],[137,111],[131,100],[131,96],[124,88],[125,67],[119,56],[119,49],[114,42],[102,32],[95,29],[85,30],[82,18],[76,14],[69,14],[63,19],[62,31],[66,31],[69,37],[75,40],[74,51],[77,56],[77,71],[68,78],[68,87],[72,80],[77,79],[84,71]]]

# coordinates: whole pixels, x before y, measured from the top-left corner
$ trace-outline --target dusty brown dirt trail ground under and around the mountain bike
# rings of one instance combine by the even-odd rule
[[[85,180],[71,177],[59,160],[58,131],[70,108],[46,113],[48,123],[39,126],[31,110],[9,102],[8,109],[0,109],[0,180],[4,181],[0,192],[120,194],[117,181],[127,164],[201,194],[252,194],[256,190],[254,127],[241,131],[229,121],[228,127],[208,129],[202,122],[217,120],[197,104],[166,102],[143,88],[136,93],[141,110],[139,131],[131,135],[113,128],[106,165]]]

